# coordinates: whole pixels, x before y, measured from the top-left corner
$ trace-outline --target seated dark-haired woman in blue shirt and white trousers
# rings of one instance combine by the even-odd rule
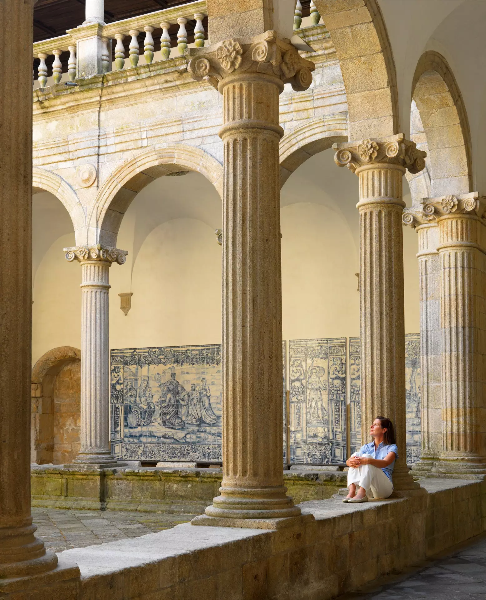
[[[342,502],[368,502],[366,491],[371,489],[375,498],[388,498],[393,491],[393,466],[398,458],[395,431],[390,419],[377,416],[369,433],[374,441],[361,446],[348,458],[349,493]],[[356,484],[359,490],[356,493]]]

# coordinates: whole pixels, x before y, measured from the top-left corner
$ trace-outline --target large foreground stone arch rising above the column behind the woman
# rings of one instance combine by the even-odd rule
[[[314,0],[341,66],[349,139],[399,133],[396,69],[377,0]]]

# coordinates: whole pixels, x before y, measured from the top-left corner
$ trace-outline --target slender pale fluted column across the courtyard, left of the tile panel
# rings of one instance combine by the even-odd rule
[[[81,446],[75,464],[108,467],[117,463],[109,443],[108,269],[123,265],[127,254],[101,245],[64,248],[69,262],[82,269]]]

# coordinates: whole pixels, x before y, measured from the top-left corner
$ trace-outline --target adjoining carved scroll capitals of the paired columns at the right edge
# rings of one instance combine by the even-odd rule
[[[412,206],[403,211],[402,221],[404,225],[410,225],[415,229],[418,225],[436,223],[440,217],[446,215],[470,215],[484,220],[486,217],[486,198],[479,196],[477,191],[469,194],[457,194],[454,196],[438,196],[435,198],[422,198],[421,207]]]

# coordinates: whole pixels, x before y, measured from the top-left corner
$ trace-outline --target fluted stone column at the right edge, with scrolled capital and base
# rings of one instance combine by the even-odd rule
[[[478,193],[424,200],[437,219],[442,333],[438,476],[486,473],[486,202]]]

